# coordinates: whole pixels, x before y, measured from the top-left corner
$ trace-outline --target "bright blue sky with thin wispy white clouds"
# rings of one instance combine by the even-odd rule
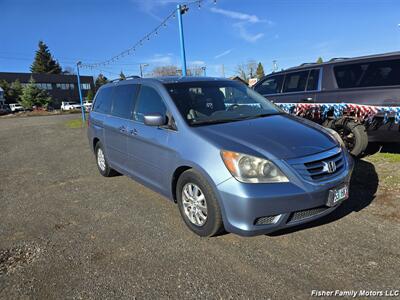
[[[38,40],[63,67],[77,60],[103,61],[132,46],[181,1],[174,0],[0,0],[0,71],[27,72]],[[211,0],[183,16],[188,65],[207,75],[233,75],[248,60],[266,72],[332,57],[400,50],[398,0]],[[180,65],[177,19],[145,41],[134,56],[101,70],[115,78],[159,65]],[[145,70],[145,72],[146,72]]]

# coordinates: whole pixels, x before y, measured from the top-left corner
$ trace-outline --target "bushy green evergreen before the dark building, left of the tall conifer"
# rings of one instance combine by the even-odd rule
[[[33,106],[47,108],[47,105],[51,102],[51,97],[47,91],[38,88],[32,77],[22,89],[20,99],[19,103],[27,109]]]

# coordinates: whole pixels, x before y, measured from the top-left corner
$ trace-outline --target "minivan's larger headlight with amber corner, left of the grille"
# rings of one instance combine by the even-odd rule
[[[240,182],[289,182],[282,171],[268,159],[231,151],[221,151],[221,157],[229,172]]]

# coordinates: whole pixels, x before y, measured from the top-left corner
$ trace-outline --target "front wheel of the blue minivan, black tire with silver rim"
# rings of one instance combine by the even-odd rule
[[[190,186],[192,186],[191,198],[197,197],[197,204],[196,200],[190,200],[186,196],[185,192],[191,190]],[[196,187],[198,188],[197,193]],[[190,169],[182,173],[176,185],[176,195],[182,219],[191,231],[202,237],[217,235],[224,231],[218,200],[210,184],[198,172]],[[196,214],[194,211],[198,213]],[[189,217],[190,215],[192,218]],[[204,216],[206,216],[205,220]],[[199,224],[199,220],[203,223]]]

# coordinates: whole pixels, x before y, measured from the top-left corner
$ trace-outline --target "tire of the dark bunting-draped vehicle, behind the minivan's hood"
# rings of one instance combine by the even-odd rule
[[[324,123],[324,126],[332,128],[340,134],[351,155],[354,157],[364,155],[368,146],[368,135],[364,125],[351,119],[339,119],[329,120]]]

